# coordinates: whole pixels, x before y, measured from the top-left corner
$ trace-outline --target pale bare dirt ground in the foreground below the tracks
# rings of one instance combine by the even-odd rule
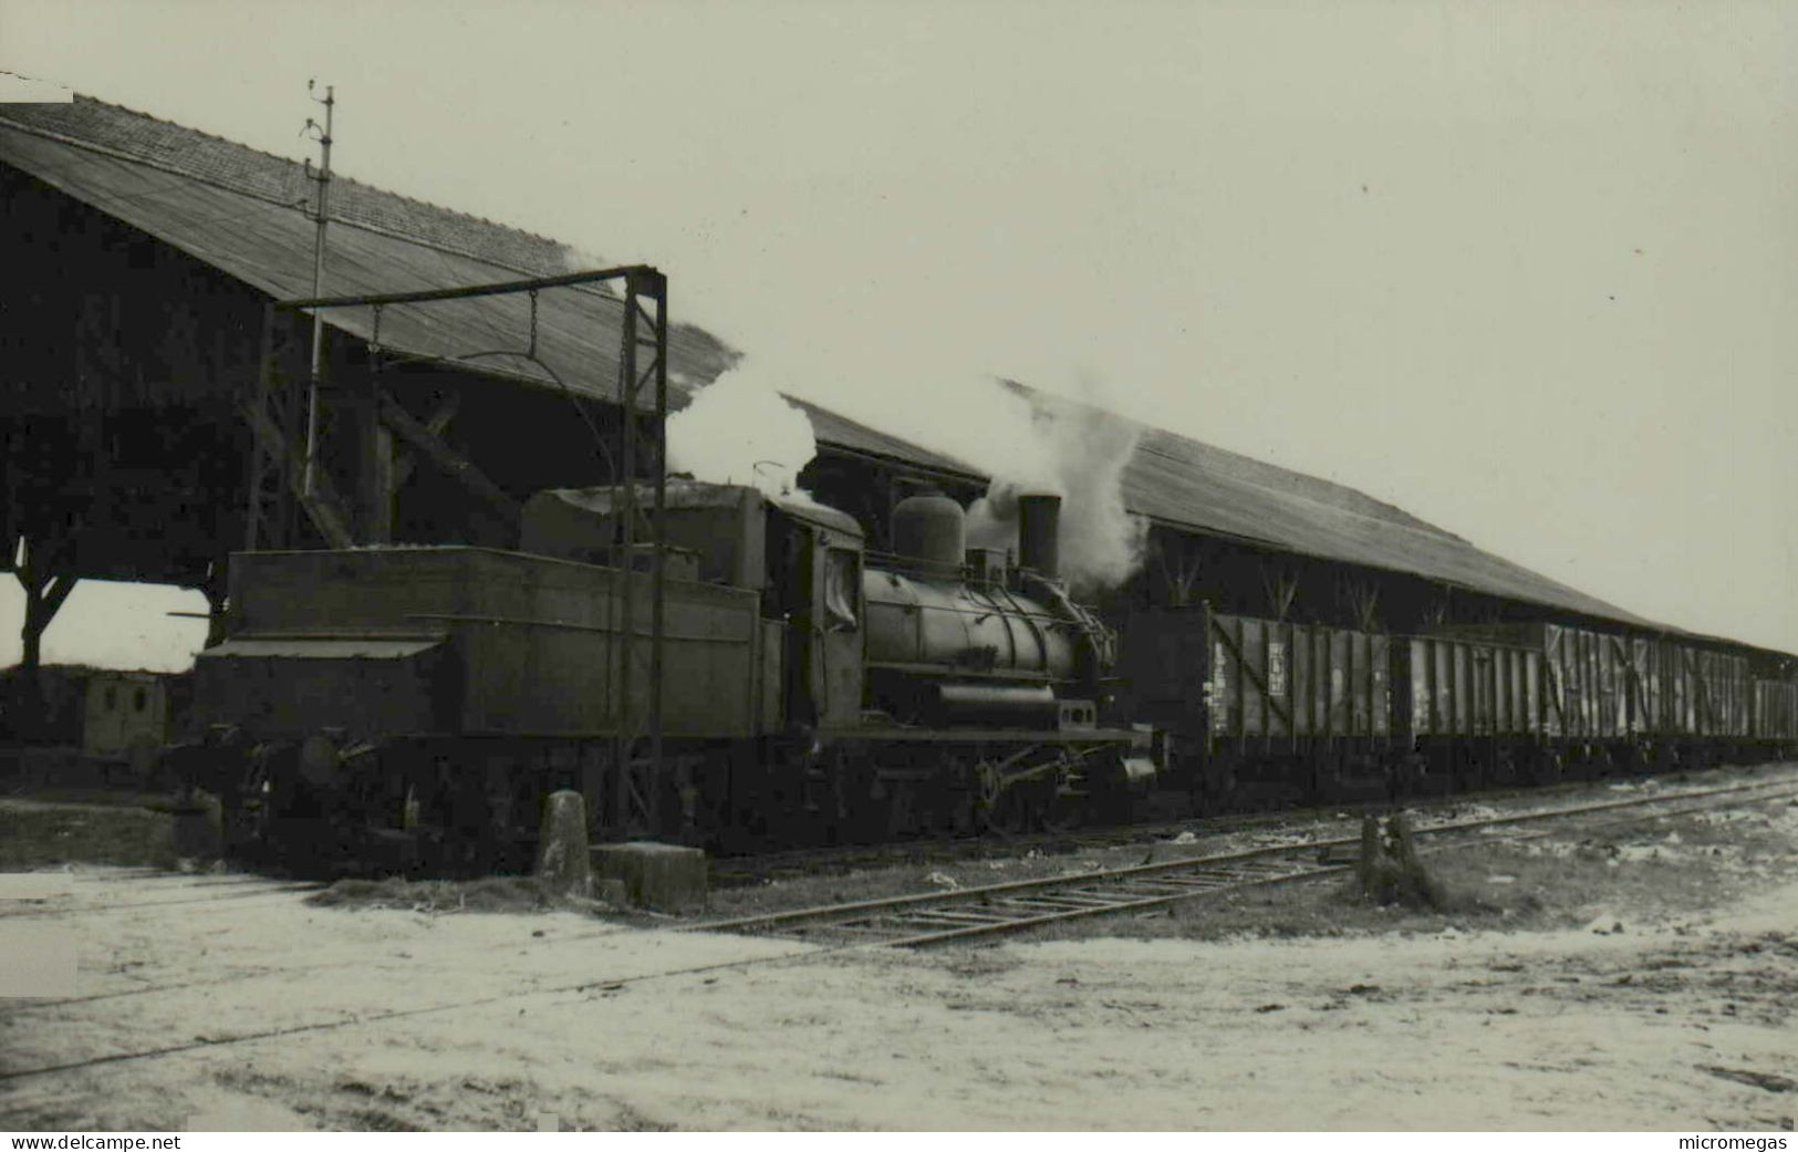
[[[79,866],[0,1129],[1793,1127],[1798,805],[1437,866],[922,954]]]

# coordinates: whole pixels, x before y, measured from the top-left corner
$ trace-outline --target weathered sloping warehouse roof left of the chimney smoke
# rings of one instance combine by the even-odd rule
[[[313,289],[313,183],[302,164],[76,97],[72,104],[0,104],[0,164],[138,228],[277,300]],[[570,248],[541,235],[369,187],[331,182],[325,291],[369,295],[487,284],[577,270]],[[678,284],[674,286],[678,293]],[[617,397],[622,300],[581,288],[538,297],[538,356],[568,388]],[[678,295],[676,295],[678,307]],[[387,307],[379,343],[414,356],[455,359],[518,350],[529,341],[527,297]],[[331,327],[374,336],[369,309],[333,309]],[[669,331],[669,403],[735,363],[725,341],[689,323]],[[482,356],[471,374],[538,386],[556,381],[527,359]],[[798,403],[798,401],[795,401]],[[946,456],[806,404],[820,442],[958,471]]]

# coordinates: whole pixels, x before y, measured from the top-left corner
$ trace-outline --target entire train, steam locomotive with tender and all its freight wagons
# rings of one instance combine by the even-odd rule
[[[1018,500],[1016,557],[967,548],[939,492],[879,554],[802,494],[671,480],[645,661],[631,496],[539,492],[516,552],[236,555],[176,771],[250,845],[503,866],[556,789],[604,836],[755,850],[1120,820],[1151,789],[1255,809],[1798,751],[1798,679],[1710,642],[1100,616],[1057,579],[1055,496]]]

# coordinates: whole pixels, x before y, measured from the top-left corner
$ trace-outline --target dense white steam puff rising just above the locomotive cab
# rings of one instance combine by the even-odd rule
[[[806,413],[744,363],[669,417],[667,451],[671,473],[780,496],[798,487],[798,473],[818,455],[818,440]]]

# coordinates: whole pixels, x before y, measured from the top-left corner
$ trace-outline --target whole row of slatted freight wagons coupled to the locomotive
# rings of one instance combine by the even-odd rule
[[[1776,755],[1798,683],[1561,624],[1384,636],[1197,607],[1120,625],[1120,708],[1201,811],[1431,794]]]

